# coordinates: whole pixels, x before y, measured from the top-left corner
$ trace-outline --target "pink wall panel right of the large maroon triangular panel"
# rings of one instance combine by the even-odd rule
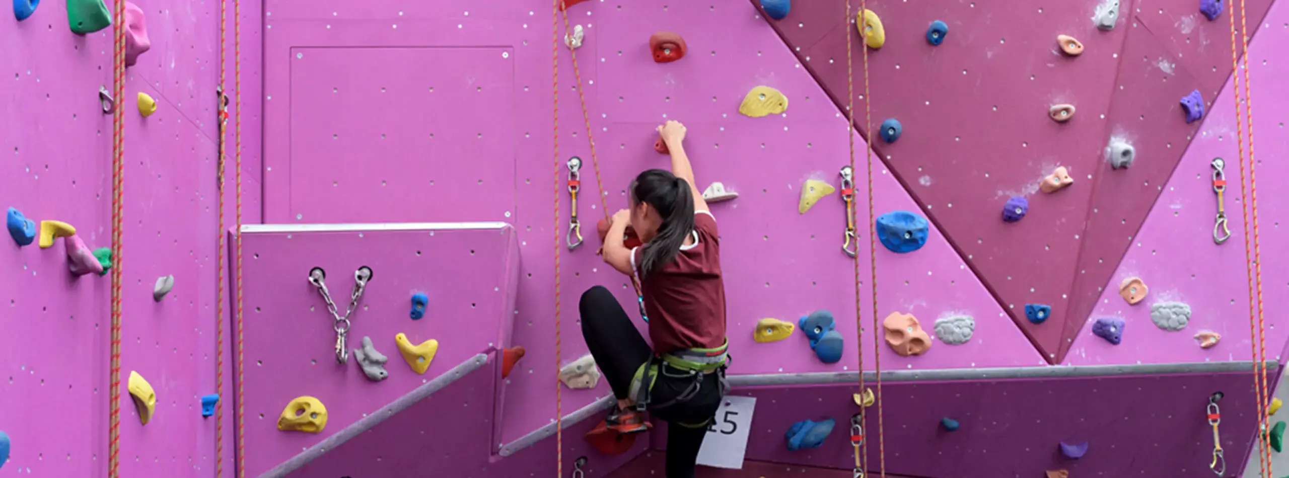
[[[1267,23],[1289,22],[1289,5],[1277,4],[1267,14]],[[1281,265],[1285,258],[1286,237],[1283,223],[1289,215],[1289,193],[1271,184],[1272,178],[1289,173],[1283,161],[1271,161],[1289,149],[1289,121],[1286,104],[1289,93],[1275,88],[1258,88],[1274,79],[1289,75],[1289,64],[1277,62],[1283,45],[1289,43],[1289,30],[1265,28],[1257,41],[1249,45],[1249,75],[1253,77],[1253,133],[1258,161],[1258,225],[1262,259],[1262,299],[1266,320],[1266,350],[1268,358],[1281,357],[1286,340],[1280,316],[1272,311],[1289,307],[1289,271]],[[1172,80],[1170,80],[1172,81]],[[1159,86],[1155,86],[1159,88]],[[1240,91],[1241,97],[1244,91]],[[1243,121],[1243,120],[1241,120]],[[1248,133],[1248,122],[1243,124]],[[1176,148],[1174,143],[1174,148]],[[1245,144],[1245,155],[1248,155]],[[1141,149],[1138,149],[1141,155]],[[1214,157],[1226,160],[1226,210],[1231,238],[1222,245],[1213,242],[1217,195],[1213,193]],[[1161,192],[1141,232],[1136,234],[1121,263],[1118,264],[1105,291],[1096,292],[1096,308],[1084,318],[1094,322],[1098,317],[1124,318],[1124,341],[1119,347],[1090,335],[1090,327],[1074,341],[1066,363],[1128,363],[1139,362],[1199,362],[1250,359],[1249,338],[1249,282],[1245,268],[1245,222],[1240,207],[1245,198],[1240,189],[1239,147],[1236,144],[1236,116],[1232,85],[1222,90],[1213,107],[1177,165],[1177,171]],[[1138,160],[1139,161],[1139,160]],[[1133,166],[1136,167],[1136,165]],[[1118,174],[1112,173],[1112,174]],[[1248,166],[1244,180],[1248,183]],[[1252,225],[1250,225],[1252,229]],[[1250,244],[1252,247],[1252,244]],[[1186,258],[1179,260],[1178,258]],[[1128,305],[1119,296],[1119,282],[1127,277],[1141,277],[1150,287],[1150,295],[1137,305]],[[1156,301],[1176,300],[1191,307],[1191,320],[1181,331],[1165,331],[1150,318],[1150,305]],[[1210,349],[1201,349],[1192,336],[1201,330],[1222,334],[1222,341]]]

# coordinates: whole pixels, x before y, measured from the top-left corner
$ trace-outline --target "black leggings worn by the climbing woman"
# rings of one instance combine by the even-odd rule
[[[579,304],[581,312],[581,334],[586,339],[586,348],[596,357],[596,365],[608,380],[608,387],[614,389],[617,399],[633,398],[630,393],[632,379],[641,363],[648,361],[654,349],[648,347],[641,332],[632,325],[626,311],[614,298],[614,294],[602,286],[594,286],[581,294]],[[669,384],[665,375],[659,374],[654,385],[654,399],[665,401],[661,394],[665,390],[679,392],[687,384]],[[670,387],[669,387],[670,385]],[[703,437],[706,428],[687,428],[675,424],[675,420],[684,423],[699,423],[715,416],[721,406],[721,384],[715,374],[708,374],[699,394],[687,402],[681,402],[665,408],[654,411],[654,416],[669,421],[666,428],[666,478],[693,478],[695,461],[699,459],[699,448],[703,447]]]

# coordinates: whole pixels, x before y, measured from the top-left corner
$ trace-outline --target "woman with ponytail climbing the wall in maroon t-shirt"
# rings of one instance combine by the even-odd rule
[[[639,280],[654,347],[607,289],[584,292],[579,308],[586,347],[617,397],[607,425],[644,432],[644,410],[668,421],[666,477],[691,478],[727,389],[721,238],[684,155],[684,125],[668,121],[657,131],[672,171],[637,175],[628,189],[630,209],[614,214],[603,236],[605,262]],[[628,228],[642,246],[624,245]]]

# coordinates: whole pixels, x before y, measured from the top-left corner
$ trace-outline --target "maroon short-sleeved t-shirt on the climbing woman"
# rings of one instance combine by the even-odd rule
[[[648,336],[654,352],[717,348],[724,344],[724,280],[721,277],[721,238],[709,211],[693,215],[693,245],[682,246],[675,260],[641,281]],[[632,271],[644,249],[632,249]]]

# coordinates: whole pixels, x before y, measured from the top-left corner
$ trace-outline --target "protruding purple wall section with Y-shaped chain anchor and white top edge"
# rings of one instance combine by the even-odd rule
[[[259,475],[467,358],[504,347],[508,322],[514,317],[518,273],[514,229],[503,223],[394,227],[244,229],[249,475]],[[309,269],[324,268],[330,294],[344,314],[354,271],[361,265],[371,268],[373,278],[352,314],[348,348],[371,338],[376,350],[389,358],[384,365],[389,376],[379,383],[363,375],[352,353],[348,363],[336,363],[335,320],[307,281]],[[287,276],[289,271],[295,273]],[[424,318],[414,321],[409,312],[411,296],[418,292],[429,301]],[[394,344],[400,332],[411,344],[438,340],[438,352],[425,374],[415,374],[403,361]],[[499,370],[489,370],[496,374],[472,375],[500,379]],[[491,388],[487,390],[472,398],[474,408],[461,419],[469,417],[491,439],[491,424],[496,423],[492,403],[499,397]],[[327,408],[322,433],[277,429],[277,416],[299,396],[316,397]]]

